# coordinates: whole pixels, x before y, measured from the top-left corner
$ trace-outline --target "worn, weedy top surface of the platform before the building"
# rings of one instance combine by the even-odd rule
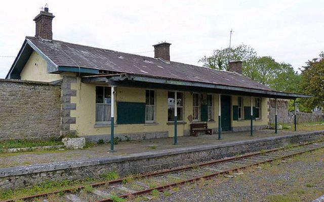
[[[222,140],[218,140],[218,134],[199,135],[197,137],[180,136],[178,145],[173,145],[174,138],[149,139],[141,141],[119,142],[115,145],[115,152],[109,153],[110,145],[96,145],[92,148],[77,150],[52,150],[34,153],[0,154],[0,168],[26,166],[33,164],[43,164],[52,162],[64,162],[71,160],[84,160],[93,158],[120,157],[129,154],[145,153],[147,151],[159,151],[164,149],[182,148],[198,145],[222,145],[228,142],[239,142],[245,140],[262,139],[267,137],[277,137],[290,134],[300,134],[305,131],[292,132],[279,130],[274,134],[274,130],[257,130],[254,136],[250,132],[223,132]]]

